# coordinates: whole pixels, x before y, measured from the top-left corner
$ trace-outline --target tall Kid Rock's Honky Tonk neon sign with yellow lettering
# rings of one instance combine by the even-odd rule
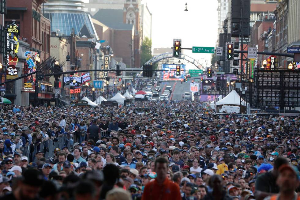
[[[20,26],[16,24],[15,22],[7,25],[6,27],[6,53],[3,58],[3,65],[9,66],[9,65],[17,65],[18,59],[17,52],[19,49],[19,41],[18,36],[20,35]]]

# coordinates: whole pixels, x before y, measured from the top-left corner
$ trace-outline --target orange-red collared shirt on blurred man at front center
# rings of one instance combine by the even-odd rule
[[[157,180],[149,182],[145,188],[142,200],[182,200],[180,188],[176,183],[169,181],[167,178],[162,184]]]

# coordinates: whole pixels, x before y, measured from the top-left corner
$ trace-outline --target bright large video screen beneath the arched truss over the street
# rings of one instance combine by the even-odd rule
[[[180,66],[180,75],[176,76],[176,64],[162,64],[161,69],[162,71],[162,79],[163,80],[181,80],[186,76],[186,65],[179,65]]]

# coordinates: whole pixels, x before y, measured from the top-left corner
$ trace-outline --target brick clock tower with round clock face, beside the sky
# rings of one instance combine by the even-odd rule
[[[125,0],[123,23],[132,24],[134,40],[132,45],[132,67],[141,67],[141,0]]]

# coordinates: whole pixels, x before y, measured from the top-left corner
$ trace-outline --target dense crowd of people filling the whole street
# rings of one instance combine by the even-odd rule
[[[4,105],[0,199],[299,199],[299,121],[188,101]]]

